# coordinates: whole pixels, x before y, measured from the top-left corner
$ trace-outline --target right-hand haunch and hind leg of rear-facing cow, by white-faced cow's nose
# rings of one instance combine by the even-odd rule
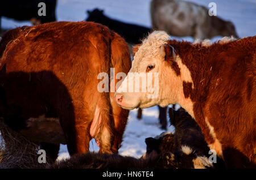
[[[117,91],[118,85],[120,85],[121,81],[125,78],[122,76],[122,78],[118,79],[119,77],[117,74],[122,72],[123,75],[127,75],[127,73],[130,71],[131,55],[125,40],[116,33],[113,33],[113,39],[111,43],[111,62],[112,67],[114,67],[114,69],[112,69],[113,78],[110,83],[112,91],[109,93],[110,104],[112,107],[111,116],[114,122],[114,142],[112,145],[112,151],[117,153],[122,143],[122,136],[127,124],[129,110],[122,109],[115,103],[114,93]]]

